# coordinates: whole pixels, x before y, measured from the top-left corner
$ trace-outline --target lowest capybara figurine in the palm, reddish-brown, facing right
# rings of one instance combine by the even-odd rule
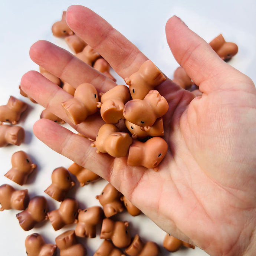
[[[167,149],[168,145],[161,137],[152,137],[146,142],[135,140],[129,148],[127,164],[158,171],[158,165],[165,157]]]

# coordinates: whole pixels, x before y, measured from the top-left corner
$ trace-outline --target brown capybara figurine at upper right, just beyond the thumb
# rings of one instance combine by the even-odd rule
[[[224,61],[230,60],[238,52],[238,46],[235,43],[226,42],[221,34],[211,40],[209,45]]]

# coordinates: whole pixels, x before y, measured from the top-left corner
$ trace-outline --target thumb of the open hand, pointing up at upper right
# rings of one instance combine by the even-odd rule
[[[216,91],[222,79],[232,77],[234,69],[225,63],[200,36],[191,31],[178,17],[171,17],[165,27],[168,45],[177,62],[200,86],[201,92]],[[211,86],[210,83],[211,81]],[[233,86],[230,83],[230,86]]]

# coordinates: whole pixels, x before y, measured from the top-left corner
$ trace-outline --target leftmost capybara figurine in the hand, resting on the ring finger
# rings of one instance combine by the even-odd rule
[[[101,107],[98,92],[91,83],[82,83],[76,88],[74,98],[62,102],[62,106],[73,124],[85,121]]]

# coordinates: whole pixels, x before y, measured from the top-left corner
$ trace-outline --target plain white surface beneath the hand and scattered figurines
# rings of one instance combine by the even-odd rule
[[[18,124],[26,131],[26,139],[23,144],[0,148],[0,185],[8,183],[16,189],[28,188],[31,198],[36,195],[46,196],[50,210],[59,207],[58,202],[43,192],[51,183],[50,175],[56,167],[68,168],[72,161],[53,152],[33,135],[33,124],[40,117],[43,108],[21,96],[18,86],[25,72],[30,69],[38,70],[37,65],[29,59],[29,47],[34,42],[46,39],[57,45],[64,45],[63,40],[52,36],[51,26],[60,20],[62,11],[66,10],[68,6],[82,4],[100,14],[137,45],[170,78],[178,64],[168,49],[164,29],[167,19],[175,14],[207,42],[222,33],[227,41],[237,43],[239,52],[229,64],[256,82],[256,18],[254,13],[256,2],[254,0],[243,0],[239,3],[231,0],[216,0],[214,2],[187,0],[178,1],[178,3],[171,0],[3,1],[0,16],[0,105],[5,105],[10,95],[13,95],[27,102],[29,111]],[[161,4],[159,4],[160,2]],[[68,125],[65,126],[68,127]],[[12,154],[19,150],[26,151],[37,164],[36,171],[28,180],[29,184],[22,187],[4,177],[4,174],[11,168]],[[102,180],[82,188],[76,187],[75,197],[79,200],[80,206],[83,208],[99,205],[95,196],[101,193],[105,184],[106,182]],[[75,227],[72,225],[54,231],[50,222],[47,221],[42,226],[25,232],[16,219],[18,212],[16,210],[0,212],[0,255],[26,255],[24,240],[31,233],[40,233],[48,243],[54,243],[58,234]],[[165,233],[147,217],[121,214],[120,218],[130,221],[133,234],[138,232],[142,239],[153,240],[160,246],[162,245]],[[85,241],[89,256],[93,255],[102,242],[99,236]],[[163,247],[161,249],[161,255],[171,255]],[[203,256],[207,254],[196,248],[195,250],[180,250],[175,255]]]

